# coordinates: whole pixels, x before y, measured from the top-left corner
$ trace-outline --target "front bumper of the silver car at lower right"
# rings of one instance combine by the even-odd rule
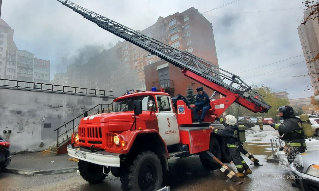
[[[301,190],[309,190],[309,187],[319,187],[319,178],[299,172],[296,167],[291,164],[289,174],[294,177],[293,181],[301,187]]]

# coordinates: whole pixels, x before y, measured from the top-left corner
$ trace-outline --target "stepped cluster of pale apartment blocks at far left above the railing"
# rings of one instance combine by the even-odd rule
[[[50,60],[34,58],[34,54],[19,51],[13,41],[10,25],[3,19],[0,23],[0,78],[26,82],[49,83]],[[16,86],[14,81],[3,81],[1,85]],[[20,87],[33,87],[30,83],[19,83]]]

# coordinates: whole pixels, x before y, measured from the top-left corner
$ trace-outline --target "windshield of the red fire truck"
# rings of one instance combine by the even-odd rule
[[[121,99],[115,102],[115,112],[125,112],[125,111],[134,111],[133,110],[133,101],[141,100],[142,101],[142,110],[150,111],[151,108],[147,106],[149,100],[155,101],[153,96],[137,96],[127,99]]]

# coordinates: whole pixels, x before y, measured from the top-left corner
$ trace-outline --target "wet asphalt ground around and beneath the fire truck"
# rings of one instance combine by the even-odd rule
[[[259,127],[247,133],[244,147],[260,160],[263,166],[249,165],[253,174],[240,178],[241,185],[228,183],[227,177],[219,170],[205,169],[198,156],[188,158],[173,157],[169,160],[169,173],[165,176],[165,185],[171,190],[300,190],[291,186],[291,179],[278,179],[276,176],[285,177],[288,171],[276,163],[266,162],[272,154],[270,139],[277,136],[278,132],[270,126],[264,126],[264,131]],[[251,133],[251,134],[250,134]],[[250,164],[250,160],[244,157]],[[235,170],[233,163],[227,164]],[[0,190],[122,190],[120,178],[112,175],[97,185],[86,182],[78,173],[64,173],[30,176],[12,173],[0,173]]]

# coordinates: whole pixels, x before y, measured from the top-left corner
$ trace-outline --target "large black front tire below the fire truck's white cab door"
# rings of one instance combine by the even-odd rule
[[[143,151],[121,176],[123,190],[158,190],[163,183],[163,170],[158,156]]]

